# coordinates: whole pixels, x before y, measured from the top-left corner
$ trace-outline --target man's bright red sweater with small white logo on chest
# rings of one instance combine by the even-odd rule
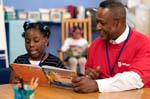
[[[110,66],[115,63],[116,57],[124,42],[120,44],[108,43],[108,52]],[[88,58],[86,68],[95,69],[100,66],[100,78],[111,77],[106,56],[106,42],[98,37],[88,49]],[[138,73],[143,82],[144,87],[150,87],[150,38],[131,30],[129,39],[118,59],[112,76],[124,71],[134,71]]]

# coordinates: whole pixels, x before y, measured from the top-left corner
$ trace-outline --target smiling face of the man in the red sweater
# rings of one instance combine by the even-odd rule
[[[108,8],[99,8],[96,13],[96,29],[99,31],[102,40],[108,41],[116,38],[117,24],[112,15]]]

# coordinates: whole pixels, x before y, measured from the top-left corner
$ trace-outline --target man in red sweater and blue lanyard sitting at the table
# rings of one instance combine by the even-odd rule
[[[77,92],[116,92],[150,87],[150,39],[126,25],[124,6],[103,1],[96,13],[100,33],[88,49],[86,76],[72,80]]]

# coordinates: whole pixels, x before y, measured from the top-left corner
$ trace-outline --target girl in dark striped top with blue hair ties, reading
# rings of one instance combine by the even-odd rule
[[[27,53],[18,56],[14,63],[32,64],[36,66],[48,65],[58,68],[65,68],[60,59],[51,53],[46,52],[49,44],[50,29],[48,26],[35,22],[26,21],[23,25],[25,38],[25,47]],[[15,77],[14,72],[11,73],[11,80]]]

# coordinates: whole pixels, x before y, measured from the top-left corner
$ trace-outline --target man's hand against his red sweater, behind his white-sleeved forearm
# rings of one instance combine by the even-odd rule
[[[92,68],[88,68],[86,71],[85,71],[85,75],[91,77],[92,79],[98,79],[99,78],[99,75],[100,75],[100,67],[98,66],[96,68],[96,70],[92,69]]]

